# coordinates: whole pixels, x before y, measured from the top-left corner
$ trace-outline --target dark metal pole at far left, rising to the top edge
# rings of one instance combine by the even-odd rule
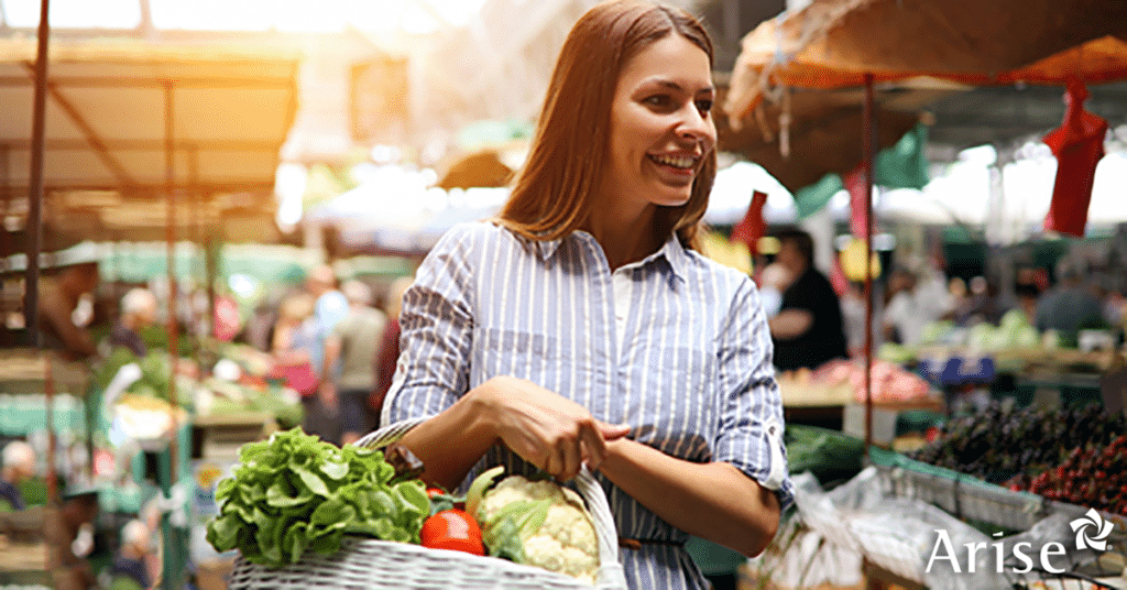
[[[32,169],[29,175],[32,193],[28,195],[27,213],[27,270],[24,284],[24,324],[27,327],[27,344],[38,349],[39,335],[39,252],[43,249],[43,142],[47,120],[47,43],[51,39],[51,24],[47,19],[51,0],[39,0],[38,49],[35,54],[35,103],[32,111]]]

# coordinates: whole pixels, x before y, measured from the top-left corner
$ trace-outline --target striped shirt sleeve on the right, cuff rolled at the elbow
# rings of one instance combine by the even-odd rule
[[[783,443],[782,396],[774,379],[766,315],[751,280],[740,284],[718,336],[724,407],[713,459],[735,465],[775,492],[786,510],[793,501],[793,487]]]

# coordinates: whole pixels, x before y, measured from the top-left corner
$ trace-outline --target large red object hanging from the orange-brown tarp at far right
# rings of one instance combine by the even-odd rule
[[[1057,177],[1053,202],[1045,215],[1045,229],[1075,237],[1084,236],[1095,165],[1103,157],[1103,138],[1108,132],[1107,121],[1084,111],[1088,96],[1088,88],[1082,82],[1070,81],[1064,122],[1044,139],[1057,159]]]

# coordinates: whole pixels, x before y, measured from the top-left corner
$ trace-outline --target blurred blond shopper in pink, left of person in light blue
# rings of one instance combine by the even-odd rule
[[[314,355],[314,350],[321,344],[317,337],[313,306],[313,298],[309,293],[294,293],[282,301],[270,351],[276,370],[282,373],[286,387],[301,396],[303,430],[325,440],[337,441],[340,438],[337,408],[326,406],[317,395],[320,376],[313,359],[320,360],[320,354]]]

